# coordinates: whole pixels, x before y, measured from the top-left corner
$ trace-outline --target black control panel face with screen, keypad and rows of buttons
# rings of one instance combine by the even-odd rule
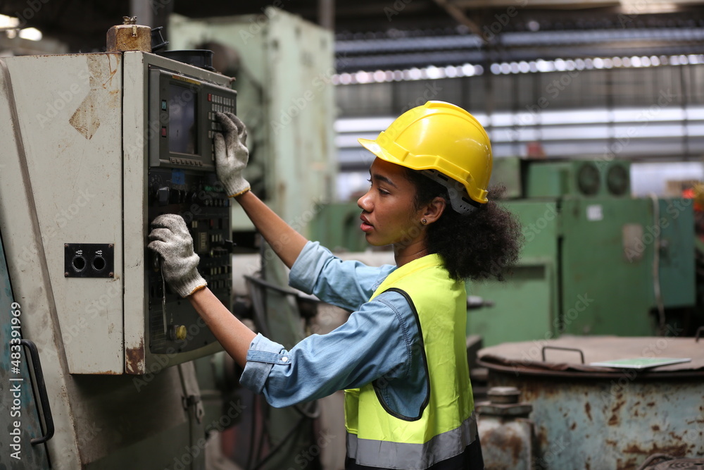
[[[237,111],[237,92],[163,66],[149,68],[148,219],[184,218],[198,254],[199,273],[220,301],[230,304],[230,199],[215,175],[215,113]],[[158,256],[145,265],[149,298],[149,352],[189,352],[215,342],[191,307],[161,276]]]

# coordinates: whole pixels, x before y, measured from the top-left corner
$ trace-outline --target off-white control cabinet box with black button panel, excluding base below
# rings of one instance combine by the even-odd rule
[[[212,140],[214,112],[235,109],[230,80],[139,51],[3,68],[0,228],[18,297],[49,302],[27,328],[56,316],[70,373],[139,375],[220,350],[146,243],[153,218],[183,216],[201,274],[229,304],[230,202]],[[160,93],[166,79],[182,96]],[[177,106],[193,135],[176,135]],[[182,153],[163,150],[178,137]]]

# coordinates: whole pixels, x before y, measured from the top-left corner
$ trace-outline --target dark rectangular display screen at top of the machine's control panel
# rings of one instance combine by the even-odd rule
[[[180,154],[196,153],[196,99],[187,87],[169,85],[169,150]]]

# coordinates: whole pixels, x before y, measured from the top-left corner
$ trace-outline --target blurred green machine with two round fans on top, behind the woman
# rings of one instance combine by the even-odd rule
[[[470,283],[484,345],[560,334],[681,333],[695,304],[691,199],[630,197],[626,161],[498,159],[505,205],[523,225],[506,282]]]

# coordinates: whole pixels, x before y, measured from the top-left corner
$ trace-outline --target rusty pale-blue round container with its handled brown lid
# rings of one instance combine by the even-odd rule
[[[689,358],[644,370],[610,359]],[[549,361],[546,361],[548,359]],[[533,469],[636,469],[652,454],[704,457],[704,344],[693,338],[574,337],[479,352],[489,386],[533,406]]]

